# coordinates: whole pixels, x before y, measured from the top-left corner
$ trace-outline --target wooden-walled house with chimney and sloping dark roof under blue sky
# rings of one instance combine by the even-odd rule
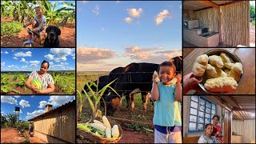
[[[52,109],[47,104],[44,114],[29,121],[34,121],[34,136],[49,143],[75,142],[75,100]]]

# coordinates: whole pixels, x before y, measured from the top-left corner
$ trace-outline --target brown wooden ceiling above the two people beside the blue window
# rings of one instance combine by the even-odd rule
[[[255,119],[255,96],[218,96],[218,98],[233,110],[233,119]]]

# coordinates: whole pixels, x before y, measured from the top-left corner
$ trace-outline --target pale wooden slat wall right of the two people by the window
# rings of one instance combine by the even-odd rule
[[[232,131],[242,135],[243,143],[250,143],[252,139],[255,139],[255,120],[233,120]]]

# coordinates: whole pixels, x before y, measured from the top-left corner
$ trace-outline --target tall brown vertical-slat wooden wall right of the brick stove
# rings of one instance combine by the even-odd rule
[[[250,46],[250,2],[220,6],[220,10],[223,43],[228,46]]]

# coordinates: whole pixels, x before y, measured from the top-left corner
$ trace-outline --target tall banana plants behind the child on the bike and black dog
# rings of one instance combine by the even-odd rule
[[[34,6],[41,6],[46,16],[47,25],[64,26],[67,22],[75,21],[75,5],[70,2],[62,2],[71,8],[62,7],[56,10],[57,3],[54,6],[48,1],[1,1],[1,16],[13,18],[14,21],[26,23],[31,22],[35,17]],[[1,30],[2,33],[2,30]]]

